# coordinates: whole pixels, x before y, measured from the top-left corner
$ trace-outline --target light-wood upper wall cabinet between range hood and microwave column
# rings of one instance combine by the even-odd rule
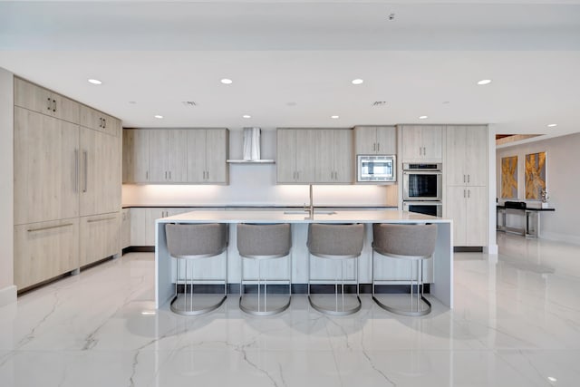
[[[351,184],[353,131],[278,129],[278,184]]]

